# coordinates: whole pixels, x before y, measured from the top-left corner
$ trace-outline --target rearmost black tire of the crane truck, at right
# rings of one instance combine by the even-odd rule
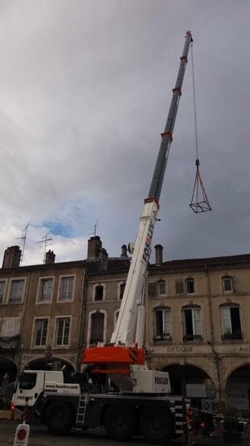
[[[165,408],[144,408],[140,428],[148,443],[163,445],[174,436],[174,419]]]

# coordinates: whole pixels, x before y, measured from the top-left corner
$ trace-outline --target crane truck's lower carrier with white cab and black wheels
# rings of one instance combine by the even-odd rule
[[[73,427],[82,431],[99,426],[113,440],[142,435],[149,443],[165,444],[181,435],[182,397],[121,394],[93,383],[88,374],[76,374],[74,379],[80,383],[65,383],[63,371],[25,370],[12,398],[12,410],[22,409],[25,420],[45,424],[54,435],[66,435]],[[158,381],[162,380],[159,376]]]

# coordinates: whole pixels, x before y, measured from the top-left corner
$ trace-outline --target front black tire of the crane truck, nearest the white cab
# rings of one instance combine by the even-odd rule
[[[74,413],[67,403],[51,403],[47,407],[45,424],[53,435],[66,435],[73,425]]]

